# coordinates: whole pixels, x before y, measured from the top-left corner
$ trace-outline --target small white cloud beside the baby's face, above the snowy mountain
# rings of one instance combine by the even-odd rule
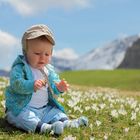
[[[64,58],[64,59],[76,59],[78,55],[71,48],[64,48],[59,51],[54,51],[53,55],[55,57]]]

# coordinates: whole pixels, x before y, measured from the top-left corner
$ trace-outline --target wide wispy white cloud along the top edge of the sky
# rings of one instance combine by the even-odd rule
[[[50,8],[86,8],[91,0],[3,0],[14,7],[21,15],[34,15],[40,11],[47,11]]]

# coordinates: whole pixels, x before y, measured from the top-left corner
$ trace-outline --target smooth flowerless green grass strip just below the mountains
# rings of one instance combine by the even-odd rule
[[[140,91],[140,70],[89,70],[60,73],[70,84]]]

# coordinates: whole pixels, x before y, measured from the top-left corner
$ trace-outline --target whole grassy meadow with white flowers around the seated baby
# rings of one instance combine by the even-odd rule
[[[58,98],[71,119],[82,115],[88,127],[65,129],[59,136],[31,134],[18,130],[4,119],[4,89],[0,78],[0,139],[10,140],[140,140],[140,70],[63,72],[73,86]],[[76,88],[79,87],[79,88]],[[83,88],[86,87],[86,88]],[[101,87],[101,88],[97,88]],[[131,91],[132,95],[119,94]]]

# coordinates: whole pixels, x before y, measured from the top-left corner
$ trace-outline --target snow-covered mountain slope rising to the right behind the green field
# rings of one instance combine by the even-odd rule
[[[115,69],[123,61],[127,49],[139,38],[139,35],[135,35],[116,39],[103,47],[93,49],[75,60],[53,58],[53,64],[59,71]]]

